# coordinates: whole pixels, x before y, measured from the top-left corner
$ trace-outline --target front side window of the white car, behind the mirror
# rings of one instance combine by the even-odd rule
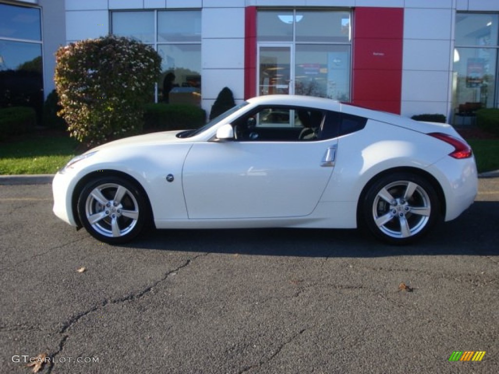
[[[318,139],[323,111],[289,106],[259,107],[233,122],[236,140],[292,142]]]

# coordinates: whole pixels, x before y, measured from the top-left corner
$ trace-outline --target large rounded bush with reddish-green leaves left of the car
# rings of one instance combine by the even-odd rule
[[[113,35],[60,47],[56,52],[58,113],[71,136],[88,147],[140,133],[161,57],[150,46]]]

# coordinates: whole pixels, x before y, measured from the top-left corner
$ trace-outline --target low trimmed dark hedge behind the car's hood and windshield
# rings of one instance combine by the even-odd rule
[[[206,124],[206,112],[189,104],[146,104],[144,131],[197,129]]]

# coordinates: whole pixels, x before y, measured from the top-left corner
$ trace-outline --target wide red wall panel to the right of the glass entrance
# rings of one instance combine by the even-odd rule
[[[400,113],[404,9],[354,9],[352,102]]]

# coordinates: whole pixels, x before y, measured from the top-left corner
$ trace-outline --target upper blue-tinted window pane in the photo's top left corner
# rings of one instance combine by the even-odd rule
[[[0,4],[0,37],[41,41],[40,9]]]

